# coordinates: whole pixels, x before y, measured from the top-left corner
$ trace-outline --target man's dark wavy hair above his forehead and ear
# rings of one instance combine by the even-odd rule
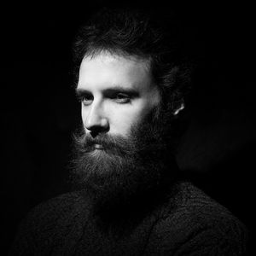
[[[172,102],[174,111],[190,87],[192,66],[184,41],[181,26],[172,15],[102,9],[79,30],[73,45],[75,73],[79,73],[84,56],[102,51],[147,59],[163,102]]]

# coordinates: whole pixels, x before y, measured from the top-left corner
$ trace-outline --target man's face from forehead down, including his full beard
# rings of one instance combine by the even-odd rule
[[[160,107],[148,61],[107,53],[86,57],[77,94],[84,131],[75,137],[75,178],[96,208],[148,195],[174,176],[166,154],[172,113]]]

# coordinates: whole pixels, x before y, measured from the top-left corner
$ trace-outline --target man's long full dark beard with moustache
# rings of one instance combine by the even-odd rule
[[[170,112],[154,108],[131,127],[128,137],[91,137],[84,130],[74,136],[74,181],[95,214],[117,218],[143,213],[164,200],[178,177],[174,119]]]

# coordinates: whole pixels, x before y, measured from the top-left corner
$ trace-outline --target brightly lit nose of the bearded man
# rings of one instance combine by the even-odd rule
[[[84,127],[90,131],[92,137],[96,137],[97,134],[108,132],[109,123],[108,118],[102,112],[99,105],[91,105],[89,113],[86,116]]]

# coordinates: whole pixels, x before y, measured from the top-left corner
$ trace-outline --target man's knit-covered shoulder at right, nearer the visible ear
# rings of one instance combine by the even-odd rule
[[[246,248],[247,228],[201,189],[181,183],[155,225],[152,237],[163,254],[241,255]]]

